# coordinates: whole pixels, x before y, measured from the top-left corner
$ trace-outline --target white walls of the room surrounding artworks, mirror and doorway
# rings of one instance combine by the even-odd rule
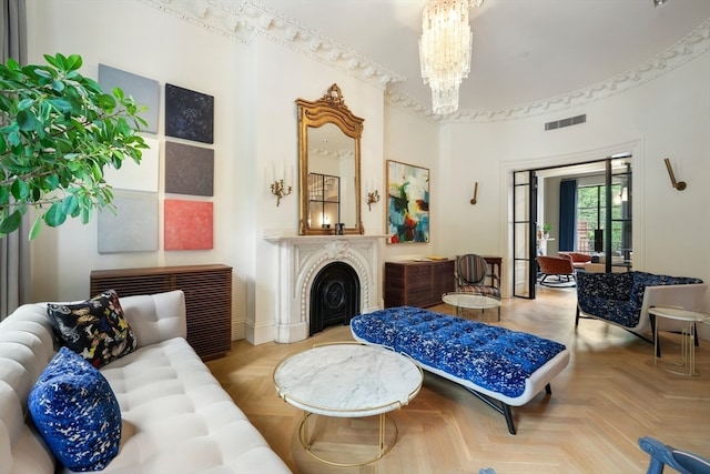
[[[136,1],[28,0],[28,16],[31,62],[41,62],[47,52],[79,53],[89,77],[97,77],[101,62],[155,79],[161,91],[170,82],[215,98],[214,249],[165,252],[161,235],[158,252],[100,255],[95,221],[43,229],[32,244],[36,301],[89,296],[91,270],[224,263],[234,266],[233,336],[272,340],[276,250],[263,235],[296,233],[298,189],[293,183],[293,194],[276,206],[265,173],[282,160],[295,169],[294,101],[318,99],[334,82],[353,113],[365,119],[363,183],[375,182],[382,195],[372,211],[361,203],[367,234],[386,231],[386,160],[430,170],[430,243],[386,245],[387,260],[470,251],[507,259],[510,171],[631,147],[633,215],[640,219],[633,230],[635,266],[710,281],[710,53],[585,107],[439,125],[386,107],[378,88],[268,39],[243,44]],[[587,123],[544,131],[546,121],[579,113],[587,113]],[[686,191],[670,188],[666,157],[688,182]],[[161,167],[161,199],[162,173]],[[478,203],[471,205],[476,181]]]

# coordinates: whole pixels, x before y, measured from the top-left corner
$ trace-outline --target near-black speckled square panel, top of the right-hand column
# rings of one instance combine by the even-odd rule
[[[214,98],[173,84],[165,84],[165,134],[213,143]]]

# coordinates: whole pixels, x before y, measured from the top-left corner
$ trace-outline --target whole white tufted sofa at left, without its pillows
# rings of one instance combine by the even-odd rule
[[[187,344],[183,293],[120,301],[139,349],[101,369],[123,420],[119,455],[102,472],[290,472]],[[0,474],[55,472],[27,407],[55,352],[45,304],[0,322]]]

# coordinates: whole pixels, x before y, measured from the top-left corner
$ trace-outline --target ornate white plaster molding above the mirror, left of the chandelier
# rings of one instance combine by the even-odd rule
[[[215,33],[250,44],[257,34],[382,90],[406,78],[352,48],[300,24],[256,1],[139,0]]]

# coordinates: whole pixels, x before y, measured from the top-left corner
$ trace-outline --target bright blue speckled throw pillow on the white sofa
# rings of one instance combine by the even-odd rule
[[[28,399],[38,431],[71,471],[103,470],[119,453],[121,409],[105,377],[61,347]]]

